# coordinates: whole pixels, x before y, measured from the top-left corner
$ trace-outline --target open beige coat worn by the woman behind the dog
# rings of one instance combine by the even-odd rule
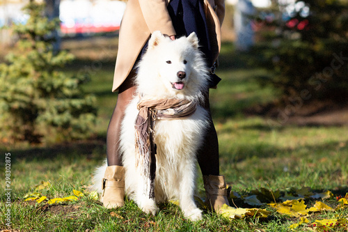
[[[129,0],[120,26],[118,55],[112,91],[116,91],[131,72],[136,58],[153,31],[175,35],[166,7],[170,0]],[[223,0],[204,0],[205,15],[215,60],[221,47],[221,24],[225,16]]]

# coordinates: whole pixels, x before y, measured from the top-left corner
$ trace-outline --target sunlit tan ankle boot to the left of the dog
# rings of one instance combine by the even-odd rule
[[[125,206],[125,169],[122,166],[106,167],[102,190],[104,207],[118,208]]]

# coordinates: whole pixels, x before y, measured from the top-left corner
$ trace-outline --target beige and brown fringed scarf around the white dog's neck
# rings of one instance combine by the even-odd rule
[[[197,102],[180,99],[153,99],[143,97],[137,105],[136,117],[136,167],[150,181],[150,199],[155,198],[156,144],[154,126],[157,119],[182,118],[196,111]]]

